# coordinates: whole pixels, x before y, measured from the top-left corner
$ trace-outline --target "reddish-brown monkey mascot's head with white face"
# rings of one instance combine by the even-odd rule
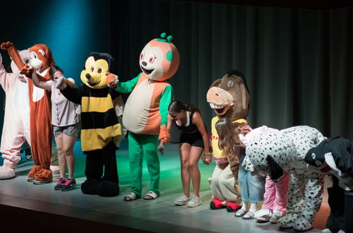
[[[52,52],[45,44],[35,44],[30,47],[30,58],[30,65],[36,71],[42,72],[50,66],[55,65]]]

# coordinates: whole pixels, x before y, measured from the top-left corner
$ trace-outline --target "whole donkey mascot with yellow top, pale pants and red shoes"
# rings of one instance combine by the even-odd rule
[[[241,205],[237,205],[239,193],[237,184],[239,162],[232,156],[227,156],[218,148],[218,135],[215,130],[216,122],[223,117],[239,124],[239,129],[249,131],[245,120],[249,110],[249,90],[244,75],[239,71],[229,71],[223,78],[217,79],[210,86],[207,93],[207,102],[217,114],[211,124],[211,145],[213,158],[216,162],[215,170],[209,179],[213,200],[211,209],[227,208],[228,212],[235,212]],[[240,157],[240,156],[239,156]]]

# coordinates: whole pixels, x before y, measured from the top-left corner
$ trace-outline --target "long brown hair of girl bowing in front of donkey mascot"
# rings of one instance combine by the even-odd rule
[[[218,148],[225,155],[236,155],[236,160],[240,160],[240,152],[244,149],[244,144],[239,139],[239,124],[233,123],[227,118],[221,118],[215,124],[218,134]]]

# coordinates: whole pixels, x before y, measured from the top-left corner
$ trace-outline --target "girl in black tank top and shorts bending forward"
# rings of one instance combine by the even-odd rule
[[[209,165],[211,162],[210,150],[208,145],[208,133],[201,118],[200,110],[190,104],[183,104],[179,100],[174,100],[168,107],[167,129],[172,129],[175,124],[181,130],[179,140],[179,156],[181,161],[181,183],[184,193],[177,198],[176,205],[188,205],[196,207],[202,204],[200,198],[201,174],[198,169],[198,160],[205,154],[204,163]],[[161,145],[163,143],[161,142]],[[160,148],[159,150],[163,150]],[[190,196],[190,183],[193,184],[193,197]]]

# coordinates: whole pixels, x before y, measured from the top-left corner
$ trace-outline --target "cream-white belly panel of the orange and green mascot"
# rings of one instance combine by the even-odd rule
[[[145,129],[154,86],[148,79],[143,80],[136,85],[126,100],[123,124],[128,131],[141,133]]]

